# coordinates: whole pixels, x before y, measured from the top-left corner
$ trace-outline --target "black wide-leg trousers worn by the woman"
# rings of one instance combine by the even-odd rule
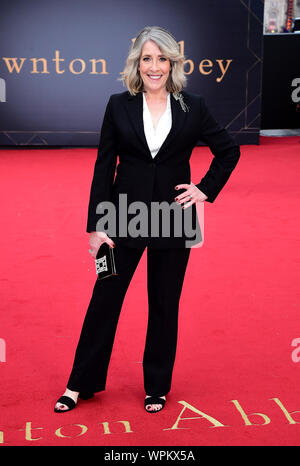
[[[116,246],[119,275],[96,280],[67,384],[70,390],[105,389],[122,303],[143,251]],[[179,299],[189,254],[189,248],[147,248],[149,316],[143,357],[147,395],[166,395],[171,388]]]

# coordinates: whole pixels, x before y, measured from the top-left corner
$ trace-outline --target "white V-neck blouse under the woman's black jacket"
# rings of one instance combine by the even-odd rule
[[[156,128],[154,128],[151,118],[151,113],[148,108],[145,93],[143,92],[143,120],[144,120],[144,132],[148,143],[149,150],[152,157],[154,158],[161,148],[164,140],[170,132],[172,127],[172,112],[171,112],[171,100],[170,94],[167,97],[167,108],[160,117]]]

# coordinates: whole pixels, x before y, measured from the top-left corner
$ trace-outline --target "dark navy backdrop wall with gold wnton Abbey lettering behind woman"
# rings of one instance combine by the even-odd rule
[[[263,0],[1,1],[0,145],[96,146],[132,39],[165,27],[240,144],[259,142]]]

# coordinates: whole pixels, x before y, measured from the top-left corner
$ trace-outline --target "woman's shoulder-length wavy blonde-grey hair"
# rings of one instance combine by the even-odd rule
[[[170,74],[166,83],[168,92],[177,94],[186,86],[184,74],[185,57],[180,53],[179,45],[172,34],[159,26],[147,26],[142,29],[132,43],[126,60],[122,77],[119,78],[131,95],[143,91],[144,83],[139,72],[139,62],[145,42],[152,40],[170,60]]]

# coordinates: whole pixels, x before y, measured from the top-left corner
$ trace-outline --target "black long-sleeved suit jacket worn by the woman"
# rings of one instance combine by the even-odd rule
[[[165,205],[168,203],[169,206],[171,204],[174,206],[174,198],[184,191],[175,190],[175,186],[191,182],[189,159],[199,140],[209,146],[214,158],[205,176],[198,184],[194,184],[208,196],[208,202],[214,202],[238,162],[240,149],[228,132],[209,113],[203,97],[186,91],[182,91],[182,95],[189,111],[184,112],[179,100],[171,94],[172,127],[155,158],[152,158],[145,138],[142,93],[132,96],[125,91],[110,97],[102,123],[90,192],[88,232],[103,231],[103,222],[101,225],[99,223],[97,225],[97,222],[103,221],[105,215],[107,218],[105,214],[107,210],[102,210],[101,214],[98,210],[97,214],[96,209],[99,203],[102,203],[99,206],[101,207],[105,204],[103,201],[109,201],[116,209],[116,222],[112,222],[116,223],[116,229],[108,221],[105,231],[116,245],[122,244],[128,247],[148,245],[155,248],[190,247],[187,246],[187,240],[192,239],[191,227],[183,226],[182,233],[178,235],[178,230],[174,226],[175,214],[172,217],[172,212],[169,216],[169,232],[166,233],[165,230],[163,232],[161,224],[158,227],[155,224],[156,233],[150,233],[151,221],[154,225],[153,217],[149,213],[151,205],[164,202]],[[117,156],[119,156],[119,164],[115,176]],[[141,211],[136,210],[134,214],[128,214],[127,210],[125,215],[119,194],[123,194],[122,206],[125,205],[125,198],[127,206],[137,201],[142,201],[147,206],[149,226],[147,236],[132,237],[132,234],[128,234],[130,222],[135,222],[131,225],[137,226],[138,212]],[[134,206],[136,204],[132,204],[132,208]],[[195,228],[195,232],[199,231],[196,206],[192,205],[188,209],[179,206],[177,208],[180,209],[182,216],[190,211],[189,221],[192,218],[192,228]],[[167,219],[166,212],[162,217]],[[145,220],[145,216],[140,218]],[[178,221],[178,216],[176,218]],[[114,220],[114,217],[110,216],[109,219]],[[184,221],[183,219],[182,225]],[[128,227],[126,234],[125,224]],[[188,232],[186,233],[185,230]],[[199,242],[199,235],[195,233],[194,239],[196,243]]]

